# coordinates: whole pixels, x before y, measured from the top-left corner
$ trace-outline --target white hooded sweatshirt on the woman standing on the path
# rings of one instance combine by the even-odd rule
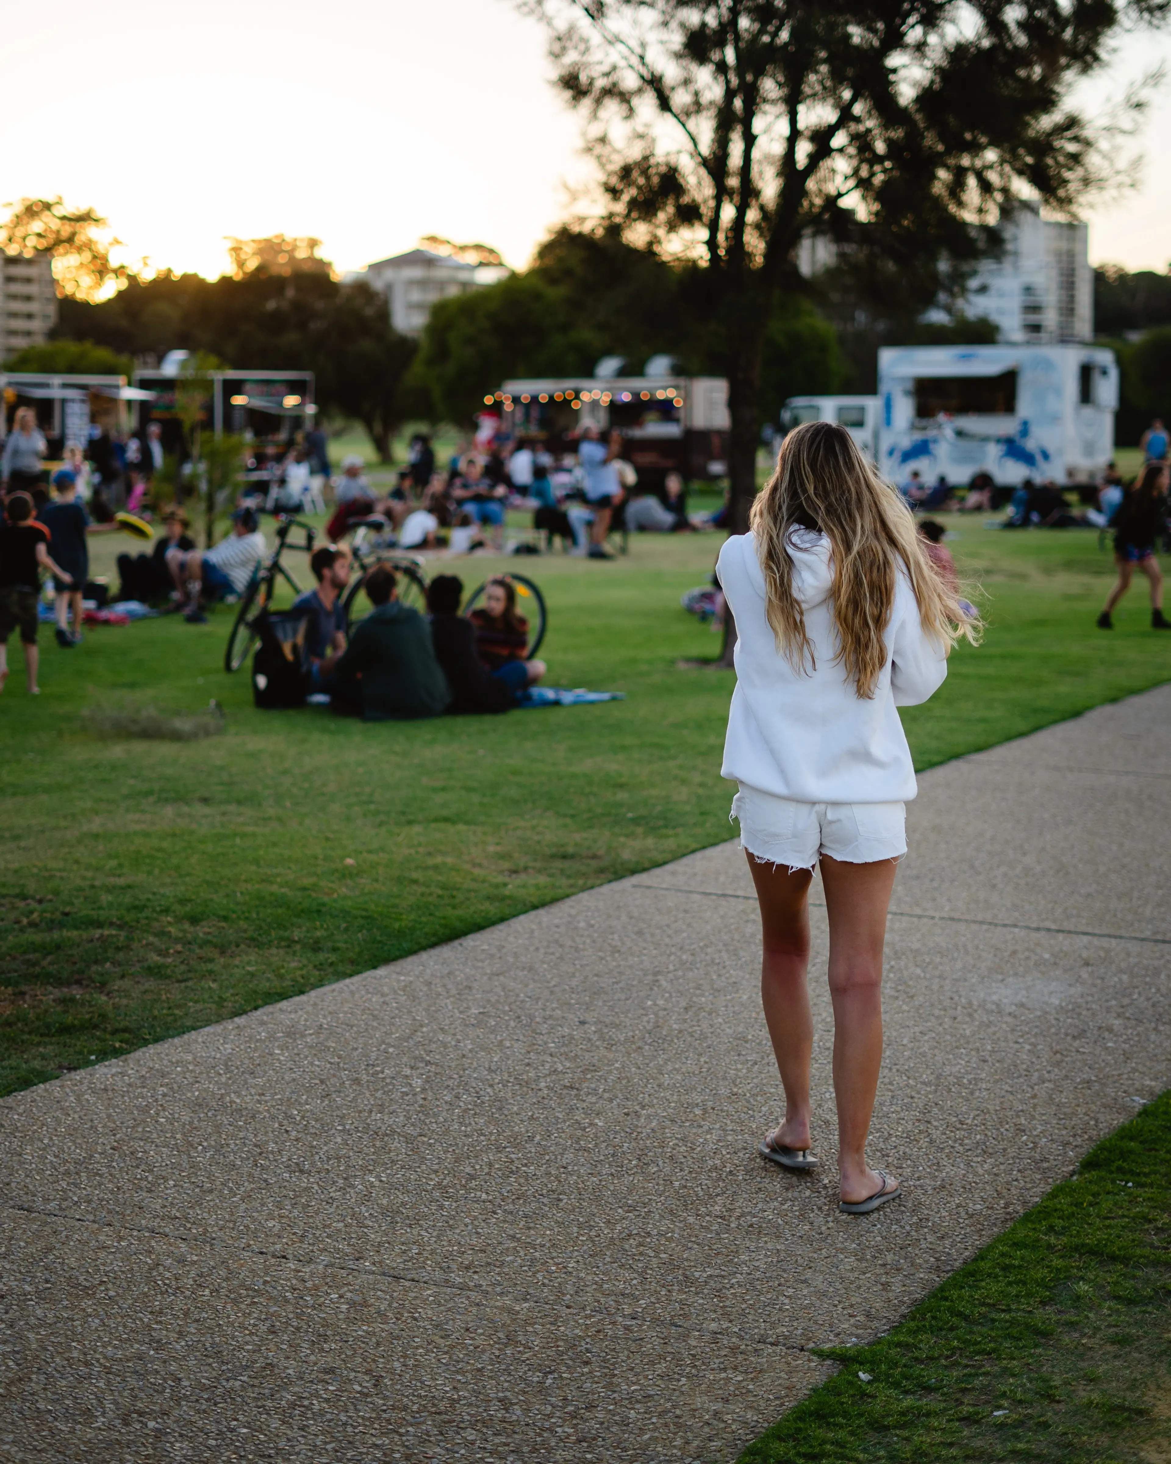
[[[899,571],[886,628],[887,659],[874,697],[858,695],[842,663],[830,605],[830,540],[790,539],[793,593],[814,649],[795,672],[764,615],[764,571],[752,534],[729,539],[716,574],[736,618],[736,690],[722,774],[802,804],[906,802],[915,769],[896,707],[913,707],[947,676],[946,649],[925,635],[910,580]]]

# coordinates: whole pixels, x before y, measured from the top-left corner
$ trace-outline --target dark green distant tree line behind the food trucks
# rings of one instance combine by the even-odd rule
[[[379,291],[335,280],[319,240],[231,243],[233,274],[220,280],[129,275],[97,303],[64,294],[59,340],[9,365],[129,372],[135,357],[183,347],[237,369],[310,369],[322,410],[362,423],[384,460],[404,423],[468,425],[509,376],[588,375],[609,354],[634,373],[659,353],[673,354],[685,375],[722,373],[710,269],[665,259],[613,223],[558,228],[524,272],[441,300],[420,340],[394,329]],[[776,422],[786,397],[874,391],[880,346],[995,340],[982,319],[924,324],[935,299],[937,274],[902,271],[865,249],[840,253],[812,281],[795,280],[766,322],[761,420]],[[1123,369],[1118,441],[1137,441],[1151,416],[1171,419],[1171,275],[1096,269],[1095,316]]]

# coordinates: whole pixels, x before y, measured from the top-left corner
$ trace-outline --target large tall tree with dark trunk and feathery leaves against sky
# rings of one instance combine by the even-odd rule
[[[1030,192],[1107,168],[1071,89],[1171,0],[518,0],[588,119],[610,217],[701,259],[729,378],[733,527],[755,493],[761,362],[809,230],[924,271]]]

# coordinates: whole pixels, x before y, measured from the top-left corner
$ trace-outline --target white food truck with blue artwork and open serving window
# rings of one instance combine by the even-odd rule
[[[1093,346],[884,346],[878,467],[902,485],[1090,482],[1114,455],[1118,365]]]

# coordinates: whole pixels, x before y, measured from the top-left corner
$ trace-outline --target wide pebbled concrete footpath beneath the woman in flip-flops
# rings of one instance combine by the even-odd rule
[[[1171,1083],[1171,688],[921,779],[871,1158],[722,845],[0,1104],[0,1458],[733,1460]],[[820,900],[818,889],[814,899]]]

